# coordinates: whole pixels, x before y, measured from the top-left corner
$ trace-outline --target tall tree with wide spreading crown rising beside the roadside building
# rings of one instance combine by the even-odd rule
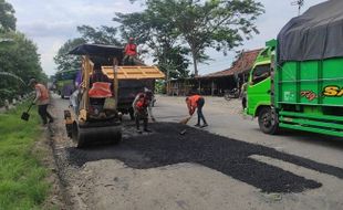
[[[134,0],[135,1],[135,0]],[[169,21],[191,53],[195,75],[197,63],[208,59],[205,50],[227,51],[258,33],[256,19],[264,12],[254,0],[146,0],[146,11]]]

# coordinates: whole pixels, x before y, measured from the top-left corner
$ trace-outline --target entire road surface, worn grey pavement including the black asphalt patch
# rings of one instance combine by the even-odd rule
[[[56,98],[62,116],[67,101]],[[206,98],[205,132],[184,129],[183,97],[157,97],[150,135],[125,123],[119,146],[75,149],[56,124],[55,158],[72,209],[343,209],[343,140],[269,136],[239,102]],[[127,118],[126,118],[127,119]],[[189,125],[194,125],[191,119]]]

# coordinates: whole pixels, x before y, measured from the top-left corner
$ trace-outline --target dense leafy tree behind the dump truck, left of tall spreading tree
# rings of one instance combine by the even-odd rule
[[[159,69],[166,73],[167,80],[188,77],[189,50],[178,42],[179,34],[169,21],[169,15],[156,12],[162,10],[158,8],[159,4],[154,7],[148,7],[143,12],[116,13],[113,20],[121,23],[119,29],[124,39],[133,36],[137,44],[146,46],[154,62],[157,62]]]

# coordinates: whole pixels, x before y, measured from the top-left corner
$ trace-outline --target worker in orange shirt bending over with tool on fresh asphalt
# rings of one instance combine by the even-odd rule
[[[202,114],[202,107],[205,105],[205,99],[202,96],[198,95],[198,94],[194,94],[191,96],[186,97],[186,104],[188,107],[188,112],[189,115],[191,116],[195,111],[197,109],[197,114],[198,114],[198,123],[195,125],[197,127],[206,127],[208,126],[205,116]],[[202,126],[200,125],[200,120],[202,119],[204,124]]]

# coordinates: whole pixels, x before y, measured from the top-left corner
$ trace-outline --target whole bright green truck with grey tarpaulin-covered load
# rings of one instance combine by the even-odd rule
[[[293,18],[266,43],[248,81],[246,113],[260,129],[343,137],[343,1]]]

